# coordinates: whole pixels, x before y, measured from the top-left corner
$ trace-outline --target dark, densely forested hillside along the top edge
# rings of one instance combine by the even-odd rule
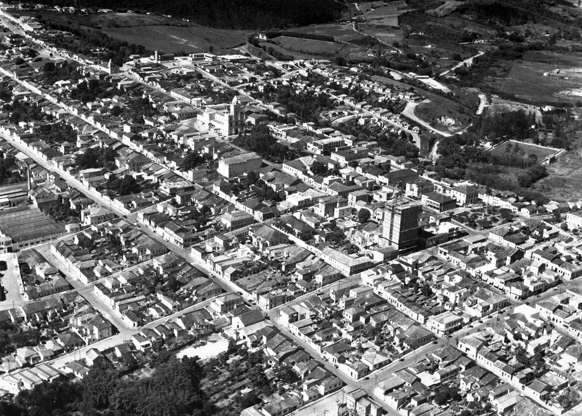
[[[46,0],[43,3],[157,12],[219,29],[271,29],[326,23],[338,19],[343,8],[343,2],[337,0]]]

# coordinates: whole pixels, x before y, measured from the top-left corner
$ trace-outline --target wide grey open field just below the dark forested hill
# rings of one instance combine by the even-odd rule
[[[200,26],[108,27],[102,31],[119,40],[141,44],[152,51],[200,52],[214,48],[230,49],[246,41],[246,34],[236,30],[210,29]]]

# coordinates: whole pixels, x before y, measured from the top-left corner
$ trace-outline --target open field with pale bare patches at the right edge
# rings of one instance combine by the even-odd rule
[[[560,73],[552,71],[559,69]],[[544,76],[544,73],[549,73]],[[582,99],[582,54],[528,52],[515,61],[499,90],[539,104],[575,102]]]

